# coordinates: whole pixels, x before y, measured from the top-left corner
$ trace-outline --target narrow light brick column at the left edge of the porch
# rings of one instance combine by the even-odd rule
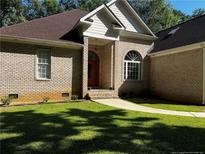
[[[88,92],[88,37],[84,37],[83,48],[83,72],[82,72],[82,97],[84,98]]]

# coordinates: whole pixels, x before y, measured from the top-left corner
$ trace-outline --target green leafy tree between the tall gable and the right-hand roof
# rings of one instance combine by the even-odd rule
[[[130,4],[154,32],[177,24],[180,17],[174,14],[172,6],[166,0],[130,0]]]

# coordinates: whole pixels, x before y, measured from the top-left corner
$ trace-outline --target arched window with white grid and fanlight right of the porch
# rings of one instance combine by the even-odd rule
[[[141,63],[142,58],[138,52],[128,52],[124,59],[124,79],[141,80]]]

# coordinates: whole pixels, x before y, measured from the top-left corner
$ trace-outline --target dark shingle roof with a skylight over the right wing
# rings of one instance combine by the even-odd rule
[[[158,32],[151,53],[205,41],[205,15]]]

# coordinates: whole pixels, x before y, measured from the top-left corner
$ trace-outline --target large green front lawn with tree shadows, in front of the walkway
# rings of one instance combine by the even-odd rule
[[[2,154],[205,151],[205,118],[126,111],[94,102],[0,110]]]

